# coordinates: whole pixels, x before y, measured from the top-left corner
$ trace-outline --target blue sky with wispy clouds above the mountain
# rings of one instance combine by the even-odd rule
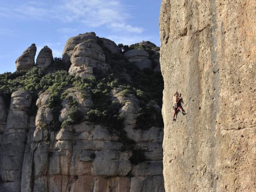
[[[69,37],[96,32],[118,43],[149,40],[160,46],[161,0],[1,0],[0,73],[14,72],[15,60],[32,43],[62,57]],[[37,56],[36,56],[37,57]]]

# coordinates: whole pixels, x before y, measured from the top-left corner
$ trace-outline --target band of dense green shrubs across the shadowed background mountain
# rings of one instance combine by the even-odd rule
[[[91,110],[87,112],[89,121],[103,124],[110,132],[118,130],[123,144],[132,145],[133,141],[126,137],[126,132],[122,129],[123,117],[119,114],[119,110],[123,103],[112,102],[111,90],[120,89],[122,90],[121,95],[125,97],[129,94],[135,94],[140,100],[141,110],[137,112],[136,116],[137,128],[146,129],[152,125],[159,126],[162,116],[154,111],[149,112],[150,109],[145,107],[145,103],[154,100],[160,107],[162,106],[162,75],[161,73],[154,73],[150,69],[139,71],[138,67],[131,64],[123,55],[130,49],[142,48],[141,45],[135,44],[129,48],[119,44],[120,53],[111,54],[104,47],[103,41],[99,40],[98,43],[105,52],[107,64],[111,66],[109,71],[103,72],[94,69],[95,77],[73,77],[67,72],[68,65],[65,65],[62,59],[55,58],[52,66],[46,70],[34,67],[29,71],[0,74],[0,92],[5,98],[5,102],[10,103],[10,96],[14,91],[18,89],[28,90],[32,95],[30,115],[35,115],[37,112],[35,103],[39,94],[48,92],[50,94],[48,105],[54,116],[50,127],[52,130],[58,130],[60,128],[58,117],[62,108],[61,102],[68,95],[64,91],[70,87],[78,87],[80,90],[90,93],[94,103]],[[150,48],[143,48],[150,53]],[[85,97],[87,96],[85,94]],[[62,126],[77,123],[82,119],[77,104],[72,102],[69,103],[69,118],[62,123]],[[151,122],[152,119],[155,122]],[[148,123],[144,123],[143,126],[143,121]]]

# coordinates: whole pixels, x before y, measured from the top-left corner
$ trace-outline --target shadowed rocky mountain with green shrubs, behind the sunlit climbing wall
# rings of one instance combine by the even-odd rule
[[[159,49],[90,32],[63,59],[26,50],[0,74],[0,192],[165,191]]]

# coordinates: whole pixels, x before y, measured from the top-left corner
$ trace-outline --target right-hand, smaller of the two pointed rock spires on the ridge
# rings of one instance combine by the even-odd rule
[[[53,51],[48,48],[48,46],[44,46],[38,56],[36,66],[40,68],[48,68],[53,63]]]

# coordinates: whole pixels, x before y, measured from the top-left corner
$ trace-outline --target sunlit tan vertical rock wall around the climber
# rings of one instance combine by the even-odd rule
[[[252,0],[162,0],[166,191],[256,190]],[[178,89],[186,116],[172,122]]]

